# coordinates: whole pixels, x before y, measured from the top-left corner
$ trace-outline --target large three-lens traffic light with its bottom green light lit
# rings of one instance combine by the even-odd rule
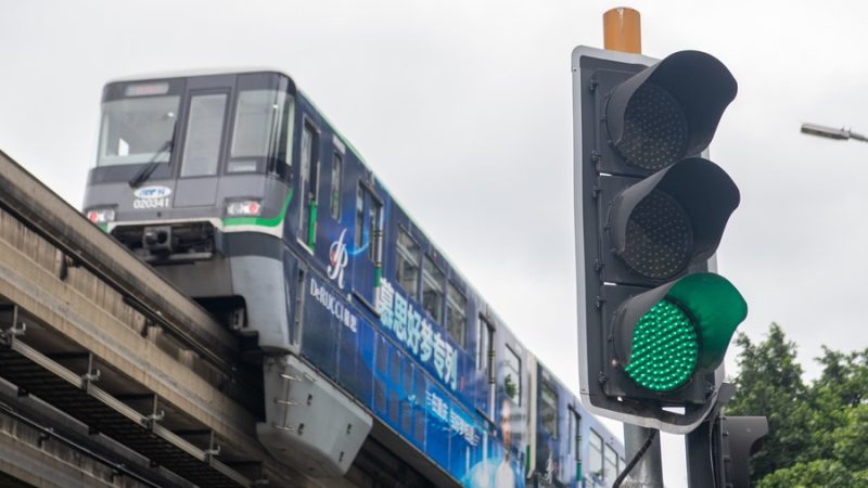
[[[737,82],[715,57],[573,53],[582,396],[672,433],[714,404],[748,306],[709,272],[738,187],[703,158]]]

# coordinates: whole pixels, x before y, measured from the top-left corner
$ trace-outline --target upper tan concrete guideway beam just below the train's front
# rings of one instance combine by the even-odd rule
[[[239,354],[231,332],[0,153],[0,378],[18,395],[200,486],[317,486],[256,439],[261,380]]]

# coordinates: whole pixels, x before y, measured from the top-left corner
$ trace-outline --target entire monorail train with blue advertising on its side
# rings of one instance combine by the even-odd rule
[[[623,467],[284,74],[106,85],[84,213],[256,345],[257,435],[310,476],[343,476],[369,437],[433,486],[611,486]]]

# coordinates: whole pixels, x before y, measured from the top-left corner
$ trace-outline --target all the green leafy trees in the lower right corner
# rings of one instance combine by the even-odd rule
[[[824,347],[821,375],[802,381],[795,344],[781,328],[752,343],[740,334],[737,393],[728,415],[766,415],[769,434],[753,457],[760,488],[868,488],[868,349],[843,354]]]

